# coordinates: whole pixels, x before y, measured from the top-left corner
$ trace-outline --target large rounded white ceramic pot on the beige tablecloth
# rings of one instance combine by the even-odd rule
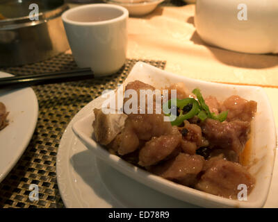
[[[197,0],[204,42],[244,53],[278,53],[278,0]]]

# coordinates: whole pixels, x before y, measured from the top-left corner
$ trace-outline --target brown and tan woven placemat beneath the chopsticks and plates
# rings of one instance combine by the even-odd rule
[[[56,182],[56,154],[60,138],[74,115],[104,89],[115,89],[139,60],[126,60],[117,74],[95,80],[39,85],[33,87],[38,97],[39,115],[35,133],[26,151],[12,171],[0,183],[0,207],[64,207]],[[165,62],[140,60],[164,69]],[[15,75],[39,74],[76,69],[70,54],[21,67],[1,68]],[[31,184],[38,185],[39,200],[31,201]]]

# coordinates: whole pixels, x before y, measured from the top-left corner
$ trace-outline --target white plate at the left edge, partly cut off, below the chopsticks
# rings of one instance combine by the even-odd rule
[[[0,71],[0,78],[12,76]],[[0,89],[0,102],[9,112],[9,124],[0,130],[0,182],[22,156],[38,120],[38,99],[31,87]]]

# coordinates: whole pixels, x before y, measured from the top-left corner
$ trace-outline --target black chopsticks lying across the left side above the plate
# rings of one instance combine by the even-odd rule
[[[46,74],[5,77],[0,78],[0,89],[7,87],[30,87],[32,85],[63,83],[74,80],[85,80],[94,77],[95,76],[90,68],[56,71]]]

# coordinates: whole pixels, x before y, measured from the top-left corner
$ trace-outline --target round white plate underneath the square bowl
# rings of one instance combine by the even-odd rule
[[[120,173],[88,150],[74,135],[72,125],[83,119],[88,110],[99,107],[101,97],[91,101],[74,116],[60,140],[56,175],[60,196],[66,207],[196,207],[142,185]],[[278,155],[276,155],[277,159]],[[278,178],[278,161],[273,178]],[[134,192],[136,190],[136,192]],[[278,180],[270,185],[268,200],[263,207],[278,207]]]

